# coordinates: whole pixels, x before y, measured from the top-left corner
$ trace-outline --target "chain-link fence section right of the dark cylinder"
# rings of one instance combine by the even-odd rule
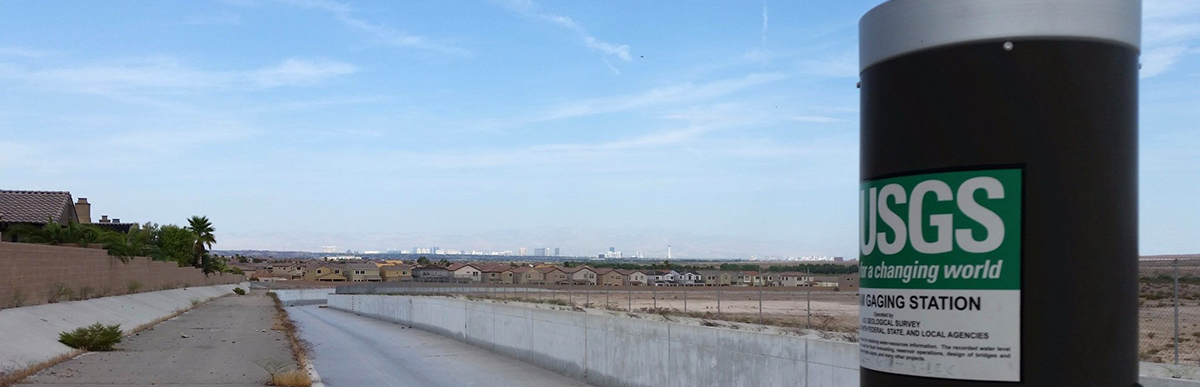
[[[1200,363],[1200,258],[1147,258],[1138,272],[1141,359]]]

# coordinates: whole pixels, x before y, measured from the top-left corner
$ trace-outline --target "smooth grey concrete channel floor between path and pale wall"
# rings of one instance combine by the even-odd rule
[[[588,386],[420,329],[318,306],[288,308],[328,387]]]

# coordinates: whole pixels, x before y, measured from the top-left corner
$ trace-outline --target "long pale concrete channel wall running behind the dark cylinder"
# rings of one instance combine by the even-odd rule
[[[852,343],[443,297],[330,294],[329,306],[455,338],[599,387],[858,386]],[[1146,364],[1142,370],[1147,375]],[[1152,376],[1141,383],[1200,387]]]

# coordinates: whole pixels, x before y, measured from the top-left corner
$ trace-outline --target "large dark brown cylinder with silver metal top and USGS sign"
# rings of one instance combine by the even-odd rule
[[[1136,0],[859,23],[860,385],[1135,386]]]

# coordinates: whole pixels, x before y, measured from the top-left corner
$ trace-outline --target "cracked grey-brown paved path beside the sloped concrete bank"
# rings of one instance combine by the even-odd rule
[[[275,304],[263,294],[218,298],[126,338],[119,351],[77,357],[17,386],[260,387],[269,375],[254,361],[292,363],[274,325]]]

